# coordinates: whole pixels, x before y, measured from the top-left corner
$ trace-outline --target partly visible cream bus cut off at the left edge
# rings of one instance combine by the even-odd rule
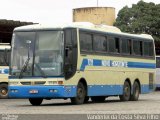
[[[8,98],[10,44],[0,43],[0,98]]]

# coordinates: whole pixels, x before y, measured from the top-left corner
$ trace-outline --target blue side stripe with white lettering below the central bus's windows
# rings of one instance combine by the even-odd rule
[[[105,66],[105,67],[125,67],[125,68],[148,68],[155,69],[155,63],[143,62],[126,62],[113,60],[97,60],[97,59],[83,59],[80,70],[84,71],[86,66]]]

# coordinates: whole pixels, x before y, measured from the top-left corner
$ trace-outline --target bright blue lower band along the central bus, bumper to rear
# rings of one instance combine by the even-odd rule
[[[89,85],[88,96],[122,95],[123,85]],[[37,93],[30,93],[37,90]],[[54,92],[50,92],[54,91]],[[70,98],[76,96],[76,86],[9,86],[10,98]],[[149,93],[149,85],[141,86],[141,93]]]

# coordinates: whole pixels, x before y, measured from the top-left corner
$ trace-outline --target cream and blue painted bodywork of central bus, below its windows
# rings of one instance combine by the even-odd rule
[[[79,30],[77,29],[77,36]],[[75,97],[78,82],[84,79],[87,83],[87,96],[113,96],[123,94],[125,80],[131,83],[131,92],[135,80],[140,81],[141,93],[149,93],[155,85],[155,59],[124,57],[119,55],[92,55],[83,54],[80,51],[79,37],[78,61],[76,73],[68,80],[63,81],[63,86],[58,85],[19,85],[9,86],[11,98],[70,98]],[[44,81],[48,81],[42,78]],[[27,81],[25,78],[11,79],[10,81]],[[31,79],[32,82],[36,81]],[[58,81],[58,80],[57,80]],[[153,86],[150,87],[150,81]],[[65,88],[69,87],[67,90]],[[43,89],[44,88],[44,89]],[[14,90],[18,89],[19,92]],[[50,89],[56,89],[58,93],[50,93]],[[30,90],[38,90],[38,94],[30,94]],[[67,92],[66,92],[67,91]]]

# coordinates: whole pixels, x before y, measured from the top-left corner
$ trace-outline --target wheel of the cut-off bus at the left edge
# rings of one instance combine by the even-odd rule
[[[0,98],[8,98],[8,84],[6,83],[0,84]]]

